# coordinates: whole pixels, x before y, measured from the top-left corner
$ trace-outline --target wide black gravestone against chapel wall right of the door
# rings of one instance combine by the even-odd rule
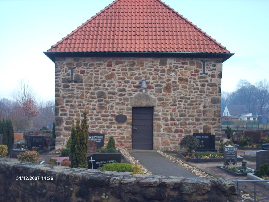
[[[193,136],[200,141],[200,147],[195,149],[195,151],[217,151],[215,149],[215,135],[210,133],[194,133]]]

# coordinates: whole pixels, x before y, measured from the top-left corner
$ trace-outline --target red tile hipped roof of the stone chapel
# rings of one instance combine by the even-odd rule
[[[48,51],[230,53],[160,0],[115,0]]]

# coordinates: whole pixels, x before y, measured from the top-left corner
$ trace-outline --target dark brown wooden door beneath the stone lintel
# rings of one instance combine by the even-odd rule
[[[153,107],[133,107],[132,149],[153,149]]]

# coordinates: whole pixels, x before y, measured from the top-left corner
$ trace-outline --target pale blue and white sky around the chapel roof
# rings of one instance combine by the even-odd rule
[[[163,0],[234,55],[223,63],[222,92],[240,79],[269,80],[269,1]],[[43,53],[112,0],[0,0],[0,99],[19,81],[54,100],[55,64]]]

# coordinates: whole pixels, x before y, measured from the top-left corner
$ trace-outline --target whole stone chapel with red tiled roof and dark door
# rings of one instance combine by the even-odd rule
[[[56,149],[84,109],[89,133],[119,148],[220,139],[222,62],[233,54],[160,0],[115,0],[44,53],[55,63]]]

